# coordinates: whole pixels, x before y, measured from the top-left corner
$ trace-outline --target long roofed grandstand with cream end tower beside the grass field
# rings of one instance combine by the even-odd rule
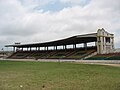
[[[88,45],[91,44],[91,45]],[[14,44],[12,59],[115,59],[114,34],[103,28],[97,33],[76,35],[69,38],[34,44]],[[109,55],[111,57],[109,57]],[[102,57],[102,58],[100,58]]]

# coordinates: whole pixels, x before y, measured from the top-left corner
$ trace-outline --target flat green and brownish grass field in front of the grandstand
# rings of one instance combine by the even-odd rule
[[[0,61],[0,90],[120,90],[120,67]]]

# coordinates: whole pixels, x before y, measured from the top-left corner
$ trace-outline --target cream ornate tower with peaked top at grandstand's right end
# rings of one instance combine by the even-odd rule
[[[114,50],[114,35],[106,32],[103,28],[97,31],[98,54],[112,53]]]

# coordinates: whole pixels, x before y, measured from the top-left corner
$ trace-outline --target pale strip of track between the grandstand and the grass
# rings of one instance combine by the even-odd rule
[[[2,59],[3,60],[3,59]],[[120,60],[62,60],[62,59],[5,59],[10,61],[37,61],[37,62],[74,62],[80,64],[98,64],[120,67]]]

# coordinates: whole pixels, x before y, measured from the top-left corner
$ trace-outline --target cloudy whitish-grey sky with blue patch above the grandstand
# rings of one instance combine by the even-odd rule
[[[120,47],[120,0],[0,0],[0,49],[104,28]]]

